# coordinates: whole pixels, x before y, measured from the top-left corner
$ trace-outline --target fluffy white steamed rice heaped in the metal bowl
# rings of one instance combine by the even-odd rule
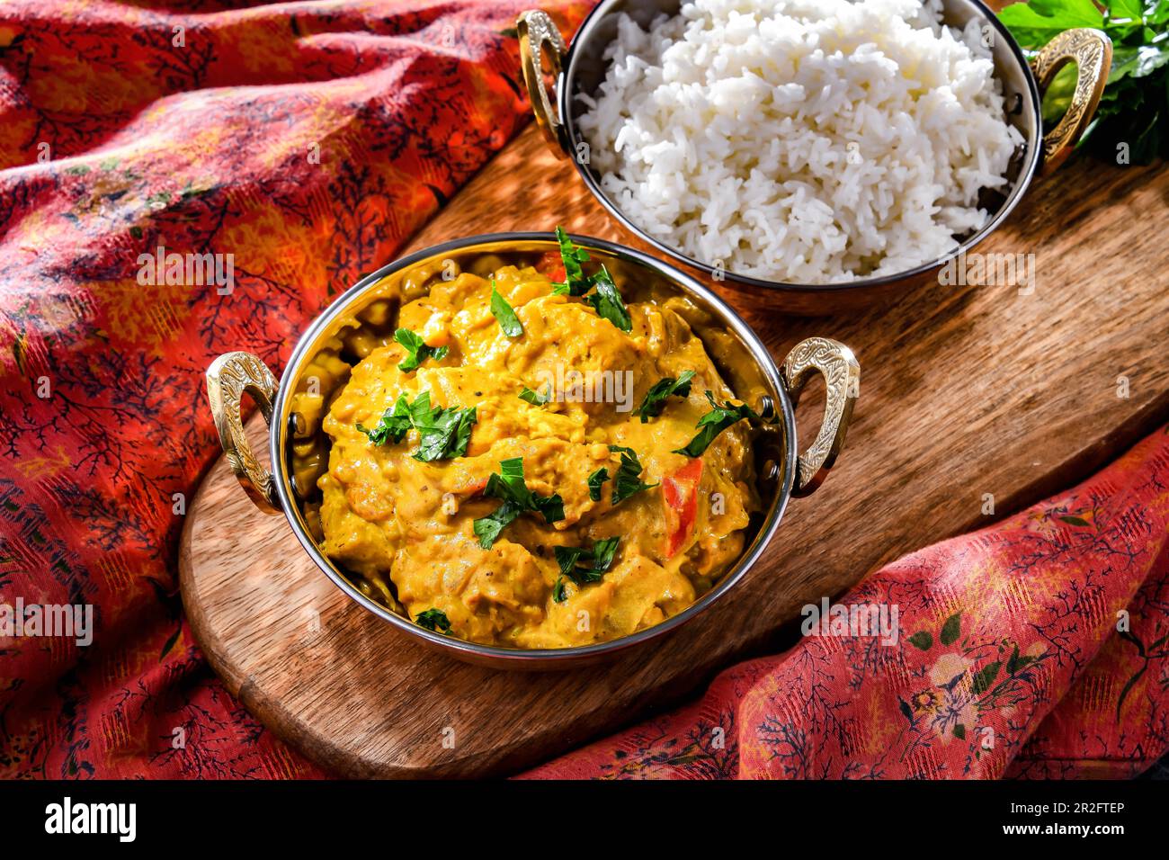
[[[690,0],[622,15],[580,129],[601,186],[686,255],[796,283],[905,271],[988,214],[1023,142],[983,32],[939,0]]]

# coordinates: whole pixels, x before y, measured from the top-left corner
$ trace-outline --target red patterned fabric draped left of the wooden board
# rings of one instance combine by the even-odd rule
[[[203,370],[283,366],[523,125],[531,2],[140,6],[0,4],[0,604],[96,607],[89,647],[0,638],[0,776],[316,776],[184,624]],[[159,246],[234,290],[143,285]]]

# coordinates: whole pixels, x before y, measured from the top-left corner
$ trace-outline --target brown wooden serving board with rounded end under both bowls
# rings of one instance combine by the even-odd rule
[[[338,775],[502,775],[583,744],[784,645],[781,628],[802,604],[989,524],[984,494],[998,516],[1018,510],[1165,421],[1167,215],[1169,168],[1080,160],[1033,185],[978,249],[1033,253],[1031,295],[933,285],[891,307],[811,319],[725,291],[780,360],[809,335],[852,346],[862,388],[848,445],[824,486],[791,502],[739,587],[617,662],[510,673],[414,645],[339,592],[283,517],[253,508],[222,460],[181,548],[195,635],[253,714]],[[530,128],[413,248],[558,223],[636,245]],[[801,404],[802,439],[818,411]]]

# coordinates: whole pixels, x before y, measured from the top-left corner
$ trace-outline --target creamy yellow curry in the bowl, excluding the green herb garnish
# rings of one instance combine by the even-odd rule
[[[556,295],[533,267],[490,274],[435,278],[428,295],[401,307],[396,325],[447,348],[441,359],[403,372],[410,351],[382,338],[338,385],[320,422],[332,442],[317,481],[323,551],[410,619],[437,610],[451,635],[473,642],[580,646],[677,614],[738,558],[759,510],[746,421],[720,432],[699,459],[675,453],[711,411],[706,392],[720,401],[733,393],[669,302],[630,303],[627,333],[581,297]],[[516,337],[492,314],[493,287],[523,325]],[[645,392],[685,371],[694,374],[689,395],[666,398],[643,422]],[[525,388],[541,397],[521,399]],[[464,455],[420,461],[414,428],[374,443],[369,428],[401,395],[416,403],[423,392],[433,407],[475,407]],[[551,400],[540,404],[544,395]],[[610,446],[632,449],[638,480],[651,484],[616,505],[622,454]],[[514,457],[527,489],[558,495],[563,516],[548,523],[526,510],[484,548],[475,521],[504,503],[485,494],[489,477]],[[590,491],[601,468],[608,480]],[[599,582],[563,575],[554,548],[588,550],[604,538],[617,538],[616,551]]]

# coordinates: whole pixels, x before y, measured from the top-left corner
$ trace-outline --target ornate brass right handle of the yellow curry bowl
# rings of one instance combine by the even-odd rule
[[[844,448],[852,405],[860,393],[860,365],[852,350],[844,344],[828,337],[809,337],[791,348],[783,359],[781,373],[793,407],[800,401],[800,393],[812,373],[824,377],[824,420],[816,441],[796,461],[791,487],[791,495],[807,496],[824,482],[828,470]]]

